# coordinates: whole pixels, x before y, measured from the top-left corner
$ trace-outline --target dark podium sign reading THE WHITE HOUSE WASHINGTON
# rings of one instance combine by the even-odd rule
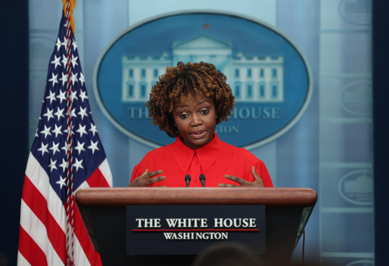
[[[223,241],[265,254],[265,206],[127,206],[126,255],[191,255]],[[152,243],[158,249],[145,247]]]

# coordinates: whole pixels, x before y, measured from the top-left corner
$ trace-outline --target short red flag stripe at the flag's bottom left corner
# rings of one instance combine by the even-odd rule
[[[32,266],[47,266],[46,255],[21,226],[19,226],[19,252]]]

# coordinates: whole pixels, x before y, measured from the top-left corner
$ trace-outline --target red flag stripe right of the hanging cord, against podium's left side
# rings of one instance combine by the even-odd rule
[[[74,196],[73,196],[74,200]],[[65,206],[66,208],[66,206]],[[82,222],[82,218],[80,215],[80,212],[77,208],[77,204],[73,205],[73,218],[74,218],[74,233],[77,236],[78,241],[80,242],[80,245],[82,249],[84,250],[84,253],[86,257],[88,258],[88,261],[93,266],[101,266],[101,259],[100,254],[98,254],[92,246],[91,240],[89,239],[88,233],[86,233],[86,229],[84,226],[84,222]]]

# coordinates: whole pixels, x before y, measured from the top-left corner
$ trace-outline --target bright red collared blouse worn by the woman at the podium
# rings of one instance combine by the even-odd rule
[[[236,184],[224,175],[233,175],[249,182],[254,182],[251,167],[263,180],[265,187],[273,187],[268,170],[263,161],[243,148],[227,144],[217,137],[208,144],[191,149],[186,146],[179,136],[174,143],[147,153],[142,161],[135,166],[131,181],[140,176],[147,168],[150,172],[163,170],[160,175],[166,179],[150,186],[185,187],[185,175],[191,175],[190,187],[201,187],[199,175],[205,175],[206,187],[217,187],[217,184]],[[156,175],[155,177],[158,177]]]

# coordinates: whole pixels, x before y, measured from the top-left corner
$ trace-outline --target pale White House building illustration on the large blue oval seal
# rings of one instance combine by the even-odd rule
[[[227,76],[237,103],[284,101],[284,58],[277,55],[233,54],[233,44],[201,34],[173,42],[172,55],[122,56],[122,101],[148,100],[151,87],[179,61],[212,63]]]

